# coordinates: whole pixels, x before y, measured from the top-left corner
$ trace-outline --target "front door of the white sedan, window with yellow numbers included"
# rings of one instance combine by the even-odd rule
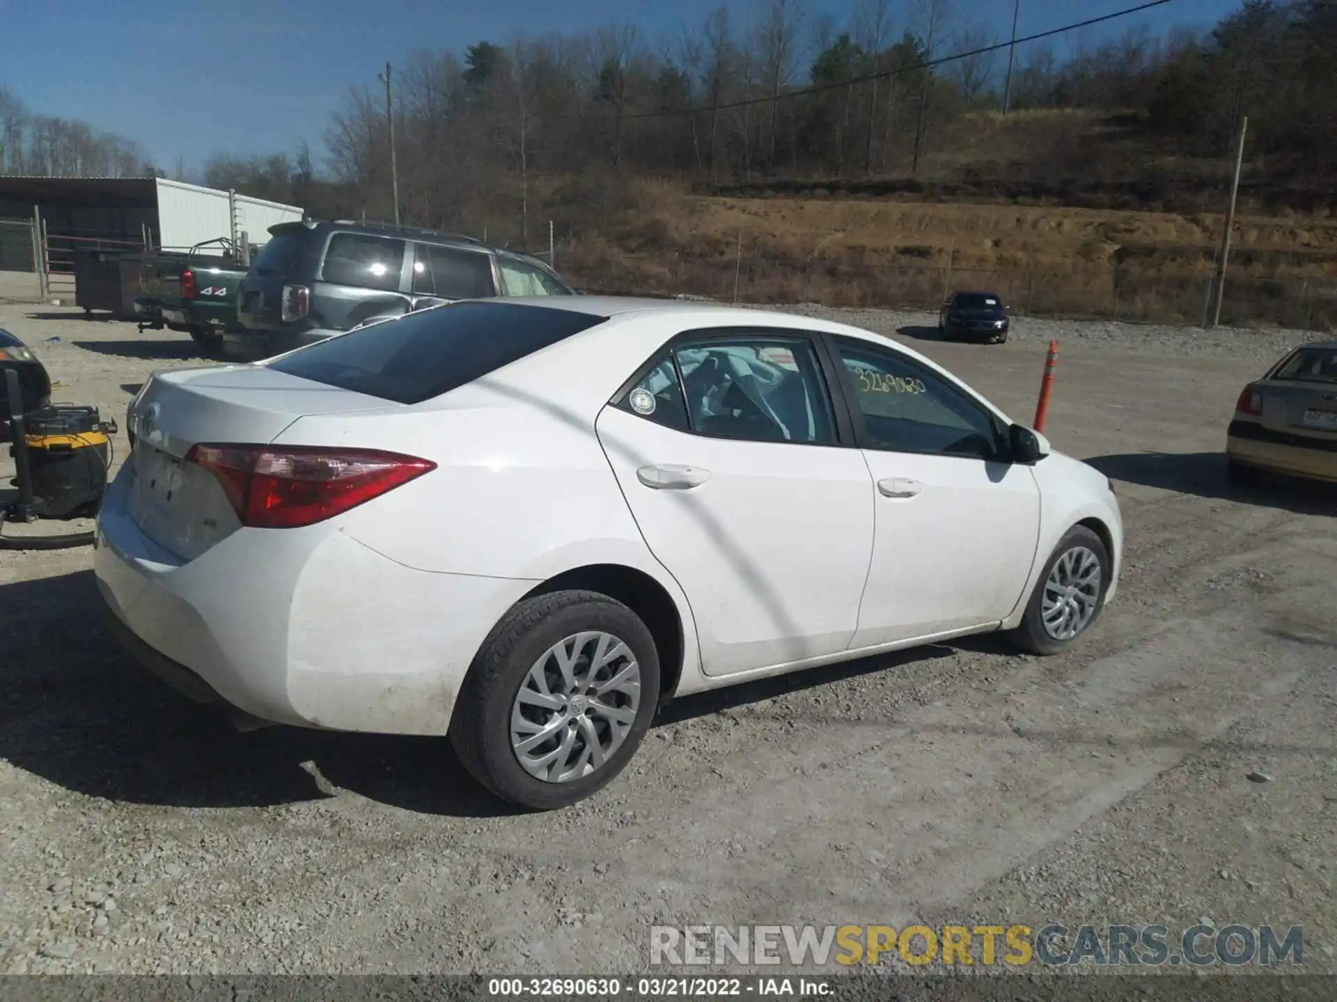
[[[901,351],[836,337],[832,351],[877,500],[873,561],[852,648],[1001,620],[1040,530],[1031,469],[964,387]]]

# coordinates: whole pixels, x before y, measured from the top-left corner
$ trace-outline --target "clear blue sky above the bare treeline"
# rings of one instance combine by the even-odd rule
[[[1021,0],[1019,35],[1058,28],[1136,0]],[[671,44],[719,0],[0,0],[0,84],[35,112],[80,118],[138,140],[171,170],[215,151],[322,155],[329,112],[350,84],[376,83],[385,60],[417,48],[463,51],[480,39],[635,23]],[[915,0],[893,0],[904,24]],[[759,0],[730,0],[735,23]],[[808,0],[849,17],[856,0]],[[1090,29],[1210,27],[1238,0],[1173,0]],[[1012,0],[955,0],[1005,37]],[[1063,39],[1055,39],[1059,52]]]

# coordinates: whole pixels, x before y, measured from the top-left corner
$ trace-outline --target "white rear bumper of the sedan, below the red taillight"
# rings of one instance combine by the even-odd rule
[[[492,625],[532,581],[397,564],[337,528],[241,529],[183,562],[118,477],[94,573],[127,649],[197,701],[281,724],[440,735]]]

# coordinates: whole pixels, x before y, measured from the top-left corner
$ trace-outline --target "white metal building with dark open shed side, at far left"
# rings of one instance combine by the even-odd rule
[[[185,251],[218,238],[239,244],[242,234],[263,246],[269,227],[303,216],[298,206],[166,178],[0,176],[0,297],[72,295],[80,251]]]

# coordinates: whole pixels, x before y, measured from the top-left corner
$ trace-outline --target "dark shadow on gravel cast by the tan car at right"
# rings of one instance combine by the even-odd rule
[[[1086,462],[1126,484],[1297,514],[1337,516],[1337,486],[1329,484],[1265,476],[1253,488],[1231,486],[1226,480],[1225,453],[1119,453],[1095,456]]]

